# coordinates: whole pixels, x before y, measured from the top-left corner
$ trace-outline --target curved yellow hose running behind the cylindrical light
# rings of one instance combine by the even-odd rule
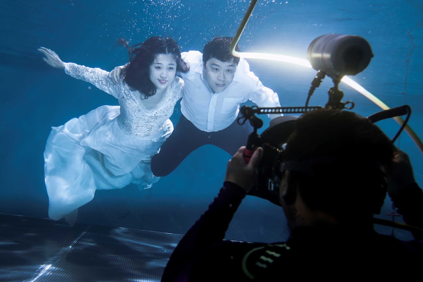
[[[299,66],[312,68],[310,62],[308,60],[305,60],[305,59],[300,59],[300,58],[291,57],[291,56],[287,56],[287,55],[268,54],[268,53],[252,53],[252,52],[238,52],[238,51],[235,50],[235,47],[238,44],[239,38],[241,37],[241,34],[244,31],[245,26],[247,25],[248,20],[251,16],[256,4],[257,4],[257,0],[251,0],[250,5],[248,6],[248,9],[245,12],[244,18],[242,19],[242,21],[241,21],[241,23],[238,27],[237,33],[234,36],[234,40],[232,41],[232,44],[231,44],[231,47],[230,47],[231,53],[236,57],[286,62],[286,63],[291,63],[291,64],[296,64],[296,65],[299,65]],[[351,78],[343,77],[341,79],[341,81],[346,83],[347,85],[349,85],[353,89],[355,89],[357,92],[359,92],[360,94],[362,94],[363,96],[368,98],[371,102],[375,103],[376,105],[378,105],[383,110],[390,109],[385,103],[380,101],[373,94],[371,94],[369,91],[364,89],[364,87],[362,87],[360,84],[358,84],[357,82],[355,82]],[[401,117],[394,117],[394,119],[397,121],[397,123],[400,126],[403,125],[404,121]],[[412,128],[410,128],[408,125],[406,125],[404,129],[408,133],[408,135],[411,137],[411,139],[413,139],[413,141],[417,145],[417,147],[420,149],[420,152],[423,154],[423,143],[420,140],[419,136],[417,136],[417,134],[414,132],[414,130]]]

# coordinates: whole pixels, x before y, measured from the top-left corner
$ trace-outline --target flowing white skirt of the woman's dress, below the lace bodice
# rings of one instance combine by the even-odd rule
[[[100,106],[52,127],[44,151],[49,217],[73,225],[78,208],[97,189],[120,189],[131,183],[149,188],[159,180],[150,160],[173,131],[168,119],[151,140],[125,134],[118,126],[120,106]]]

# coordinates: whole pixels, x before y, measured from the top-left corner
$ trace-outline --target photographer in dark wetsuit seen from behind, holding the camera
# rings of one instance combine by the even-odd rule
[[[296,120],[283,165],[276,168],[279,201],[291,226],[287,242],[223,240],[257,183],[264,152],[258,148],[246,164],[243,150],[228,162],[219,195],[176,247],[163,282],[392,279],[418,273],[422,234],[416,231],[415,240],[405,242],[376,233],[372,217],[388,192],[404,221],[422,228],[423,193],[408,156],[368,119],[320,109]]]

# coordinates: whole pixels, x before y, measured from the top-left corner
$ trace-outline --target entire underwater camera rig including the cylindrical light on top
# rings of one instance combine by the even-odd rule
[[[297,107],[270,107],[260,108],[257,106],[242,106],[240,109],[241,117],[238,118],[238,124],[242,125],[249,121],[254,130],[248,137],[246,148],[244,150],[244,160],[249,161],[255,149],[263,148],[262,159],[258,165],[258,185],[249,191],[249,195],[257,196],[270,201],[275,205],[279,203],[279,183],[283,171],[283,148],[291,133],[295,129],[295,123],[298,115],[285,114],[303,114],[322,106],[309,106],[308,102],[314,90],[320,85],[321,80],[327,75],[333,79],[335,84],[329,91],[329,100],[325,108],[352,109],[354,103],[348,101],[342,102],[343,92],[338,89],[338,84],[344,75],[356,75],[362,72],[370,63],[373,57],[369,43],[353,35],[326,34],[317,37],[308,48],[308,58],[317,76],[312,81],[309,95],[305,106]],[[346,104],[351,104],[347,107]],[[256,114],[284,114],[270,121],[270,125],[260,135],[257,129],[263,127],[263,121],[256,117]],[[402,127],[393,138],[394,142],[401,131],[405,128],[411,114],[411,108],[408,105],[392,108],[377,112],[367,118],[371,122],[377,122],[387,118],[393,118],[407,114]]]

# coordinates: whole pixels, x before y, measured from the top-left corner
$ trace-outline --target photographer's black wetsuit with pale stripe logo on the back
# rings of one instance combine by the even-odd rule
[[[245,197],[238,185],[225,182],[209,209],[180,241],[164,270],[168,281],[290,281],[317,279],[420,276],[423,241],[400,241],[354,226],[296,228],[287,242],[247,243],[223,240],[230,221]],[[422,227],[423,193],[417,184],[394,197],[398,212]],[[411,203],[411,204],[410,204]],[[421,235],[421,234],[420,234]]]

